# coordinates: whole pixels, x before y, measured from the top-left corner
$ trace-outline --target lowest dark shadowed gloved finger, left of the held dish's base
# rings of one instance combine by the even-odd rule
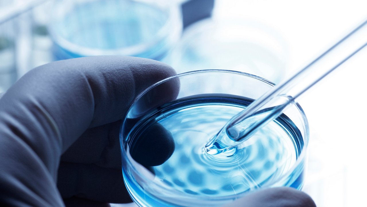
[[[93,164],[60,163],[57,186],[63,198],[108,202],[132,202],[123,182],[121,170]]]

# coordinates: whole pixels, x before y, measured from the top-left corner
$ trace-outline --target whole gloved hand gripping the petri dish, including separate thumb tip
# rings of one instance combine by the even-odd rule
[[[24,75],[0,99],[0,206],[131,202],[121,175],[120,119],[142,90],[174,73],[153,60],[100,56]],[[234,205],[315,206],[290,188],[260,190]]]

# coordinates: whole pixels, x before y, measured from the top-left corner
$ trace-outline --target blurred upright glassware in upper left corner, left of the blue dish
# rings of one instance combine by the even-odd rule
[[[2,1],[0,7],[0,92],[30,69],[52,61],[46,28],[50,0]],[[41,34],[42,33],[42,34]],[[40,35],[41,34],[41,35]],[[45,41],[39,41],[42,36]]]

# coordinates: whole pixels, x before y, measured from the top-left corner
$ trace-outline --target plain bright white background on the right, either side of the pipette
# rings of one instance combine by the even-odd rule
[[[367,2],[217,0],[215,15],[252,19],[276,29],[289,46],[291,73],[363,22]],[[310,124],[304,191],[318,207],[367,205],[366,69],[363,49],[299,99]]]

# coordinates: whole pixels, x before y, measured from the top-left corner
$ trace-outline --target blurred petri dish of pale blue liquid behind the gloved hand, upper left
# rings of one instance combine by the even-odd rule
[[[170,1],[58,0],[50,24],[56,60],[125,55],[160,60],[181,36]]]

